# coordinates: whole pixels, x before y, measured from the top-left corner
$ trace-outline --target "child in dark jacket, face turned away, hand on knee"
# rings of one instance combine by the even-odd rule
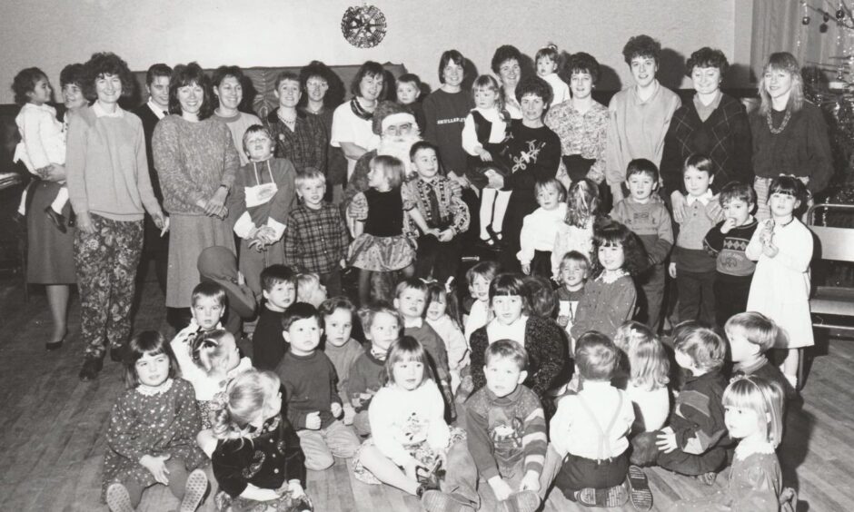
[[[727,345],[713,330],[694,321],[680,323],[673,333],[676,363],[689,376],[670,412],[670,424],[632,439],[631,462],[654,462],[712,485],[727,458],[721,446],[727,437],[720,398],[727,381],[720,372]]]

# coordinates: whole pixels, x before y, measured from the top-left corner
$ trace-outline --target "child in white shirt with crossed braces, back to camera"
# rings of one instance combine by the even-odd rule
[[[626,436],[634,412],[628,394],[611,385],[618,363],[619,350],[607,336],[591,331],[579,338],[581,391],[561,399],[551,418],[544,481],[554,475],[563,496],[589,507],[620,507],[631,487],[632,503],[648,510],[652,499],[643,472],[629,478]]]

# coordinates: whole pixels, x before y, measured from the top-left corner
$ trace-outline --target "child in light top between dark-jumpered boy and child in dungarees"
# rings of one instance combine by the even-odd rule
[[[347,396],[347,386],[350,384],[350,369],[356,359],[364,354],[362,344],[351,338],[353,332],[353,312],[355,306],[346,297],[333,297],[323,301],[318,312],[323,318],[323,334],[326,342],[323,352],[333,361],[335,372],[338,373],[338,393],[344,398],[344,425],[352,425],[356,411]]]

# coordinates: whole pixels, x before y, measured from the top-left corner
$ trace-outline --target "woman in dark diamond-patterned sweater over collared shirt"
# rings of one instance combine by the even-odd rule
[[[709,155],[715,170],[710,187],[715,193],[729,182],[753,182],[747,112],[738,100],[720,92],[729,65],[723,52],[703,47],[690,55],[685,66],[696,94],[673,113],[660,171],[676,222],[686,214],[682,164],[691,154]]]

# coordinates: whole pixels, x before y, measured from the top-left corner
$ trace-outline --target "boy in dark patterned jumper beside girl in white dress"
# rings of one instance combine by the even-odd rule
[[[727,183],[720,189],[718,201],[725,219],[706,233],[703,246],[716,261],[715,317],[723,327],[732,315],[747,310],[756,261],[744,251],[758,222],[750,215],[756,204],[756,192],[750,185]]]

